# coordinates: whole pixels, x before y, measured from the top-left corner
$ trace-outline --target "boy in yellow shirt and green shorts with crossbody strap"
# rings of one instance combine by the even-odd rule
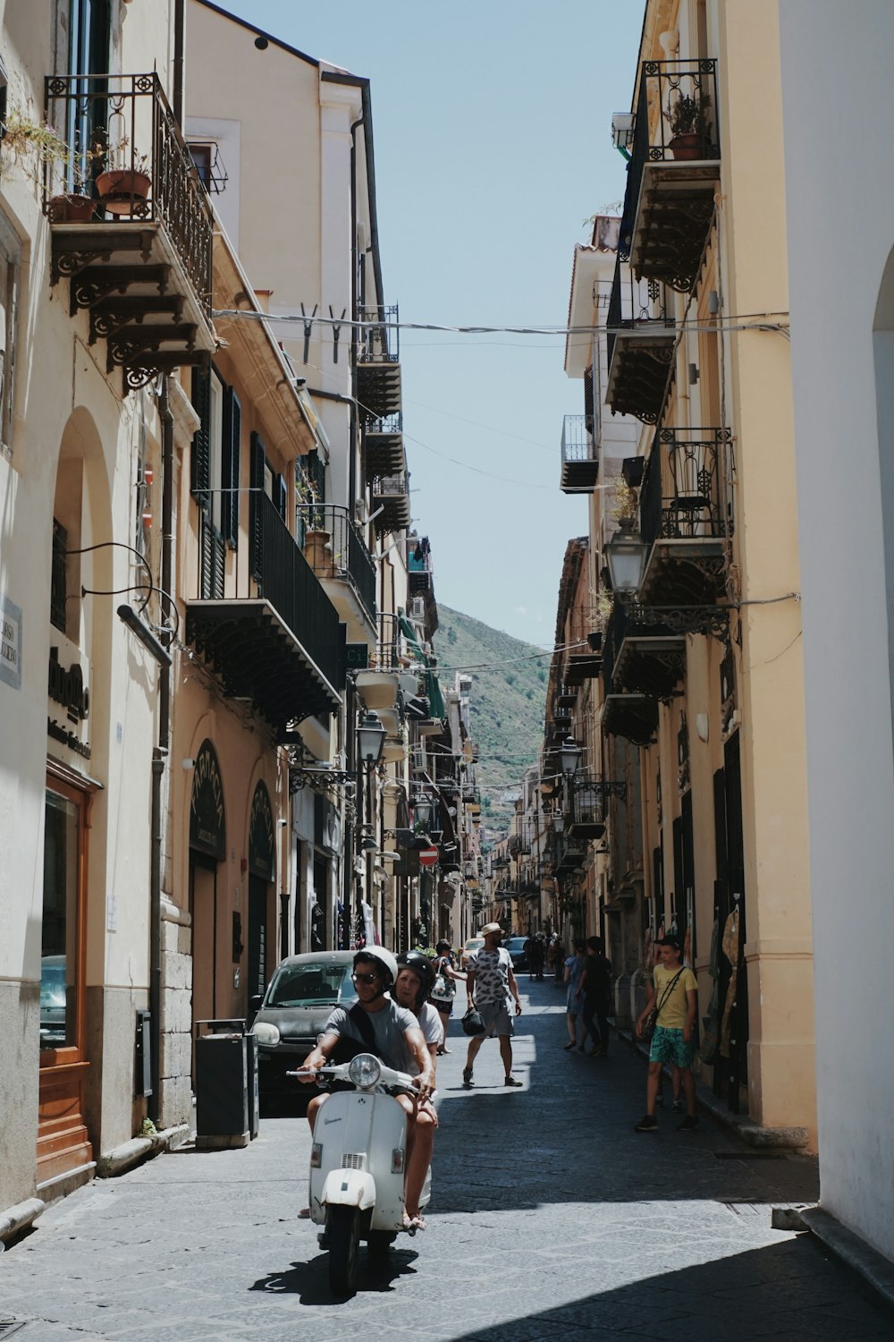
[[[686,1117],[677,1123],[678,1133],[694,1133],[698,1127],[696,1114],[696,1082],[692,1075],[692,1060],[696,1051],[696,994],[698,984],[692,969],[680,960],[677,937],[662,937],[658,942],[659,962],[653,970],[653,988],[649,1001],[637,1019],[637,1037],[642,1037],[646,1016],[658,1008],[655,1032],[651,1036],[649,1052],[649,1080],[646,1083],[647,1111],[635,1126],[637,1133],[653,1133],[658,1127],[655,1103],[658,1078],[665,1063],[680,1072],[684,1095],[686,1096]]]

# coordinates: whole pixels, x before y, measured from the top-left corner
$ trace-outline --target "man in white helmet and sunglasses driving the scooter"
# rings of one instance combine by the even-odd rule
[[[409,1072],[416,1076],[418,1099],[425,1100],[434,1090],[434,1067],[425,1044],[425,1037],[420,1029],[416,1016],[405,1007],[398,1007],[387,996],[387,989],[397,980],[398,966],[394,956],[383,946],[366,946],[354,957],[354,985],[358,1001],[350,1011],[336,1007],[326,1023],[323,1039],[311,1049],[304,1059],[303,1068],[310,1075],[303,1076],[304,1084],[315,1080],[319,1067],[323,1067],[335,1052],[339,1040],[347,1040],[359,1045],[366,1052],[375,1053],[387,1067],[395,1071]],[[432,1142],[417,1142],[417,1127],[432,1123],[429,1114],[420,1108],[418,1102],[410,1095],[395,1095],[395,1102],[406,1114],[406,1189],[405,1202],[407,1228],[420,1228],[422,1221],[421,1208],[409,1200],[409,1192],[422,1188],[425,1172],[429,1166]],[[315,1095],[307,1106],[307,1121],[311,1133],[316,1122],[320,1107],[328,1099],[327,1095]],[[417,1165],[422,1164],[422,1178],[417,1178]],[[302,1216],[310,1216],[310,1210]]]

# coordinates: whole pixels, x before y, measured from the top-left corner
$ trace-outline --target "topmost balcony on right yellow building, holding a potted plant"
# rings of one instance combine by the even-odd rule
[[[618,243],[637,276],[693,287],[718,178],[717,62],[645,60]]]

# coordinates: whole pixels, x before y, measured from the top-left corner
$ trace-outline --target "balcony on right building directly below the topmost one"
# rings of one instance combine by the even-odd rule
[[[618,258],[607,327],[606,401],[615,415],[635,415],[655,424],[665,404],[676,340],[665,286],[635,279]]]

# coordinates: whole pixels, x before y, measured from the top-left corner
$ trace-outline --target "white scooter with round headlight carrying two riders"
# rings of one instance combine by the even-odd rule
[[[299,1079],[312,1075],[290,1072]],[[385,1255],[405,1224],[406,1113],[394,1099],[414,1092],[413,1078],[386,1067],[373,1053],[350,1063],[327,1064],[316,1078],[348,1082],[353,1090],[334,1091],[316,1115],[311,1147],[311,1220],[323,1227],[320,1248],[328,1249],[330,1287],[353,1295],[357,1249],[366,1240],[371,1255]],[[420,1202],[430,1197],[426,1173]]]

